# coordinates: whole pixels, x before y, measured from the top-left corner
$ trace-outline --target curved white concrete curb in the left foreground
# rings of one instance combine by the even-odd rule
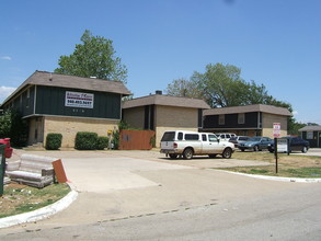
[[[62,197],[61,199],[57,200],[56,203],[51,205],[48,205],[46,207],[39,208],[34,211],[28,211],[21,215],[1,218],[0,229],[9,228],[11,226],[16,226],[16,225],[25,223],[25,222],[38,221],[38,220],[48,218],[49,216],[53,216],[57,214],[58,211],[66,209],[78,197],[78,192],[74,191],[72,185],[70,184],[68,185],[71,188],[70,193],[68,193],[65,197]]]

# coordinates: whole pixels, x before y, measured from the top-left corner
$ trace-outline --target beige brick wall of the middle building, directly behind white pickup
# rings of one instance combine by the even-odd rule
[[[173,106],[156,107],[156,146],[160,147],[160,140],[165,130],[198,130],[198,110],[196,108],[182,108]]]

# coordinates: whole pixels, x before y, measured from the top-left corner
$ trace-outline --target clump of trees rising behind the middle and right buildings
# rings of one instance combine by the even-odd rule
[[[250,104],[267,104],[286,107],[293,112],[289,103],[278,101],[268,94],[264,84],[254,80],[247,82],[241,78],[241,69],[232,65],[207,65],[205,72],[194,72],[190,80],[173,80],[167,93],[174,96],[203,99],[211,107],[228,107]],[[294,117],[288,120],[290,134],[297,134]]]

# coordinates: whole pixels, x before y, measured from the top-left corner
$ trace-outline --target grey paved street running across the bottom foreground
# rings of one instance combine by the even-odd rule
[[[320,240],[320,185],[89,225],[30,229],[3,240]],[[317,194],[317,195],[316,195]],[[314,198],[312,198],[314,197]],[[2,240],[1,238],[1,240]]]

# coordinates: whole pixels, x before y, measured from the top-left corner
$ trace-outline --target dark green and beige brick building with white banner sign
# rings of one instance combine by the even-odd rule
[[[118,81],[35,71],[1,105],[15,108],[28,123],[27,145],[42,144],[49,133],[62,134],[61,147],[74,147],[78,131],[107,136],[122,118]]]

